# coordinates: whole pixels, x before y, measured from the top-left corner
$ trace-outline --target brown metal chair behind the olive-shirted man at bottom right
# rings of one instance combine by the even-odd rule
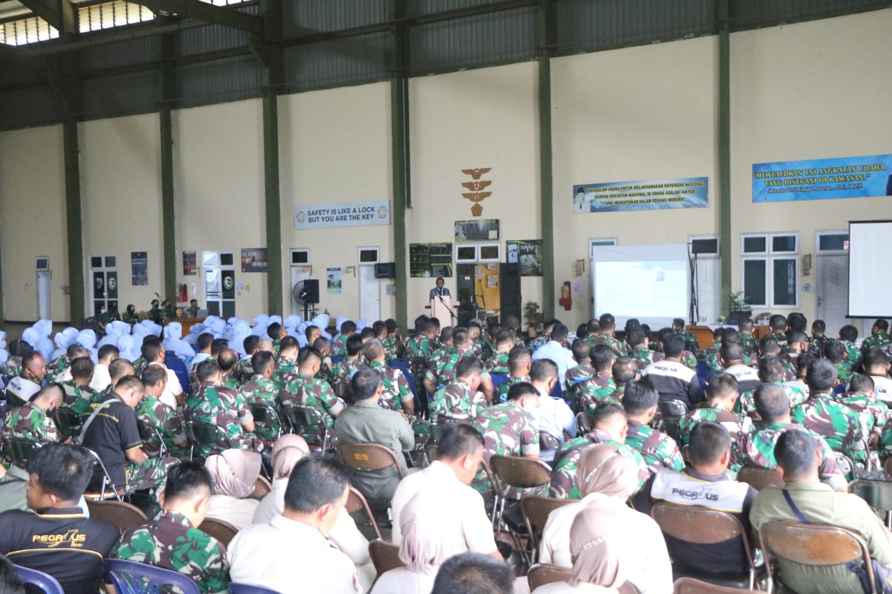
[[[801,565],[843,565],[850,561],[862,563],[871,582],[871,594],[877,594],[873,581],[873,565],[867,544],[855,532],[838,526],[799,524],[786,520],[771,520],[759,527],[759,542],[765,555],[777,557],[774,562],[787,561]],[[768,591],[774,581],[768,565]],[[859,589],[860,590],[860,589]]]

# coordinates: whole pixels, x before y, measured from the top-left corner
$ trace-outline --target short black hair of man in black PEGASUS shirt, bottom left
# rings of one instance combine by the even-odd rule
[[[93,477],[95,458],[86,448],[50,442],[28,459],[28,474],[37,474],[40,488],[62,501],[77,501]]]

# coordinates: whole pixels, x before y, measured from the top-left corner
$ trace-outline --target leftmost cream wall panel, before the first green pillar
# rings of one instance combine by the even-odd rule
[[[4,316],[37,319],[35,258],[52,270],[51,314],[69,320],[62,126],[0,133],[0,248]]]

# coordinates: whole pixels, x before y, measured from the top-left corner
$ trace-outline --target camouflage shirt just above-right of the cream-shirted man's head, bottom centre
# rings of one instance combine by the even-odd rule
[[[514,400],[485,408],[472,425],[483,435],[483,461],[487,465],[494,454],[539,455],[539,423]],[[488,493],[492,488],[483,472],[477,473],[471,486],[481,493]]]

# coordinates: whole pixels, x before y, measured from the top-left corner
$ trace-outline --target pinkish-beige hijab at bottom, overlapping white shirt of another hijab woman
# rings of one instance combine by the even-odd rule
[[[575,517],[570,528],[571,586],[591,583],[603,588],[618,588],[626,582],[618,538],[626,529],[615,513],[598,506],[586,507]]]

